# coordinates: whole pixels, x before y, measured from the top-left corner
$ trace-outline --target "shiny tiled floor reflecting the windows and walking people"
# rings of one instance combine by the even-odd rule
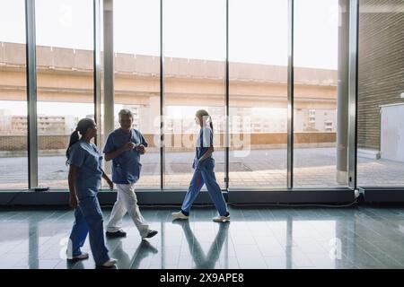
[[[153,239],[141,240],[128,216],[125,239],[108,239],[118,268],[404,268],[404,208],[212,208],[171,222],[174,209],[145,209]],[[104,209],[105,221],[110,209]],[[66,262],[72,211],[0,211],[0,268],[94,268]],[[88,239],[84,251],[90,251]]]

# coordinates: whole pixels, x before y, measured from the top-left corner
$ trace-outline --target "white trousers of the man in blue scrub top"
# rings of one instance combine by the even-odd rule
[[[107,231],[117,232],[122,227],[122,219],[125,213],[129,213],[133,222],[135,222],[140,236],[143,238],[149,232],[149,225],[145,222],[137,205],[137,197],[135,194],[135,184],[116,185],[118,188],[117,201],[110,213],[110,222],[107,225]]]

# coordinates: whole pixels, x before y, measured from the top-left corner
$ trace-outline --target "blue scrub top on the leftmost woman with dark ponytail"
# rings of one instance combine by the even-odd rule
[[[79,141],[70,147],[68,164],[77,167],[75,188],[77,196],[93,196],[101,185],[101,152],[94,143]]]

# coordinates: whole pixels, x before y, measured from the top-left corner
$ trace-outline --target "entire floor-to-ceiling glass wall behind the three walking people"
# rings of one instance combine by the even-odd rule
[[[294,0],[294,187],[347,187],[347,170],[339,164],[347,161],[347,154],[340,152],[347,146],[338,142],[347,134],[347,97],[339,87],[347,85],[347,79],[338,76],[345,73],[341,57],[347,56],[338,31],[343,23],[338,4],[344,2]],[[359,3],[357,184],[402,187],[402,3]],[[67,187],[69,135],[80,118],[94,117],[94,2],[35,4],[39,185]],[[114,109],[116,128],[119,109],[131,109],[134,127],[149,143],[138,186],[189,186],[198,135],[194,117],[198,109],[206,109],[215,127],[215,171],[221,187],[226,164],[230,188],[286,187],[288,1],[229,1],[227,47],[225,0],[163,1],[162,11],[160,4],[113,1],[115,106],[107,109]],[[3,189],[28,186],[24,8],[23,0],[0,2]],[[224,128],[226,80],[229,131]],[[159,148],[161,108],[164,161]],[[226,132],[231,140],[228,162]]]

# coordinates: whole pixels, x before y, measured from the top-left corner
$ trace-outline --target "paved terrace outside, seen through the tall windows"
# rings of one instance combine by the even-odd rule
[[[166,153],[166,187],[186,188],[192,175],[194,152]],[[214,153],[216,177],[224,187],[224,152]],[[160,186],[159,152],[142,157],[142,178],[138,187]],[[336,149],[301,148],[294,151],[295,187],[338,187]],[[62,155],[40,156],[40,185],[67,187],[66,158]],[[230,187],[285,187],[286,150],[251,150],[246,157],[230,158]],[[0,159],[0,188],[26,187],[27,158]],[[404,162],[358,158],[359,186],[404,186]]]

